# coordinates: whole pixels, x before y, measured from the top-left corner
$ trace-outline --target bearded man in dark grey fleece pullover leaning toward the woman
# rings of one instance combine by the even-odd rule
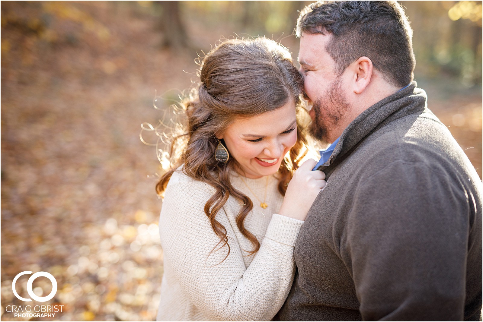
[[[333,144],[276,319],[478,321],[482,182],[413,81],[401,6],[317,2],[297,36],[311,132]]]

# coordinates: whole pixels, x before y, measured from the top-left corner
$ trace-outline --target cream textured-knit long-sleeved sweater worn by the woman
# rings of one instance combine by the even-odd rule
[[[216,219],[227,229],[227,246],[213,248],[220,239],[203,208],[214,188],[175,172],[165,191],[159,220],[164,275],[157,321],[269,321],[282,307],[294,276],[293,250],[303,221],[275,214],[283,197],[274,176],[232,177],[232,185],[254,204],[245,228],[260,241],[260,250],[237,228],[240,201],[229,197]],[[266,190],[267,189],[267,190]],[[268,208],[260,201],[266,191]],[[258,199],[256,198],[258,197]],[[272,215],[273,214],[273,215]],[[221,262],[221,263],[220,263]]]

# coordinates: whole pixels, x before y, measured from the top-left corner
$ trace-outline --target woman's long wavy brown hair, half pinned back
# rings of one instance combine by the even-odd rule
[[[301,130],[300,94],[303,80],[288,50],[265,37],[225,40],[203,58],[200,65],[199,88],[181,102],[186,113],[185,133],[173,137],[170,147],[171,167],[161,176],[156,192],[162,195],[171,175],[183,165],[183,172],[215,188],[206,202],[204,212],[213,231],[220,237],[220,248],[228,244],[227,229],[216,220],[216,214],[231,195],[242,207],[236,222],[241,233],[250,240],[255,254],[260,248],[256,237],[245,229],[244,220],[253,203],[233,188],[230,173],[240,172],[234,158],[226,163],[214,159],[218,145],[215,134],[223,133],[236,118],[247,118],[283,107],[293,100],[297,109],[297,142],[290,149],[278,171],[278,190],[285,195],[287,184],[298,168],[298,161],[307,153],[306,136]],[[269,126],[270,120],[267,120]],[[226,257],[225,257],[226,258]]]

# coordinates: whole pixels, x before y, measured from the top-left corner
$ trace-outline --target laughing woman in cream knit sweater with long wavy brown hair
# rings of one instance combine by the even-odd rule
[[[284,303],[298,231],[325,184],[315,161],[298,167],[302,84],[290,53],[266,38],[227,40],[204,57],[171,149],[179,158],[156,187],[157,320],[270,320]]]

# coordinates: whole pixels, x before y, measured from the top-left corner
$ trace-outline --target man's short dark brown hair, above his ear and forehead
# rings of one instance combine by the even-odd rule
[[[366,56],[389,83],[413,79],[412,29],[396,1],[317,1],[300,12],[297,37],[302,33],[332,34],[325,49],[339,75]]]

